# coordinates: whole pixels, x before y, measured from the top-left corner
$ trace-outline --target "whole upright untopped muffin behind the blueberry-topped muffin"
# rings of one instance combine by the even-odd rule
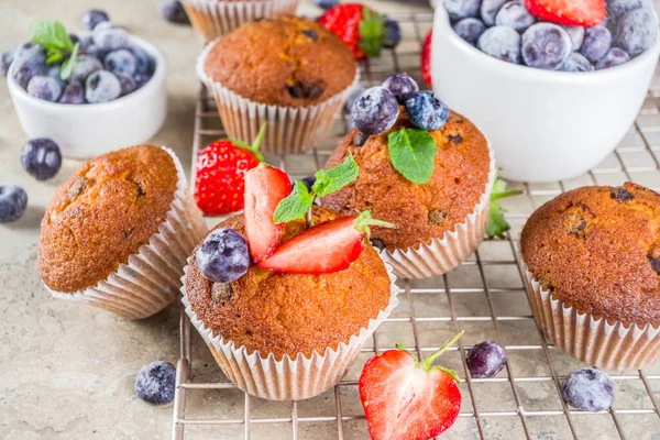
[[[299,153],[322,139],[359,78],[349,48],[318,23],[277,16],[245,23],[209,44],[197,74],[230,138]]]

